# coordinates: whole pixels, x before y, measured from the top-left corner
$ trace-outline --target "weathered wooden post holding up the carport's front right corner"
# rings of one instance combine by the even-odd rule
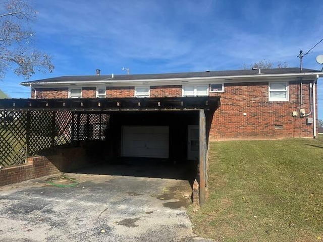
[[[200,147],[199,147],[199,185],[200,185],[200,205],[205,202],[205,173],[206,173],[206,150],[205,150],[205,112],[204,109],[200,109]]]

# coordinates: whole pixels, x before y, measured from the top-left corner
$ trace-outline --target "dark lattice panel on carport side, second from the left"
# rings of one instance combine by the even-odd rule
[[[31,111],[29,156],[52,147],[53,115],[52,111]]]

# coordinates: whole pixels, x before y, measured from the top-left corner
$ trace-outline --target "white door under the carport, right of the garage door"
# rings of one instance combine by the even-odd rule
[[[198,125],[188,126],[187,159],[198,160],[200,149],[200,130]]]

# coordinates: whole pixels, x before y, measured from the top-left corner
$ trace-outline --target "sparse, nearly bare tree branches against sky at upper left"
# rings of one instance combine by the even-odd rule
[[[32,46],[30,23],[36,15],[28,0],[7,0],[0,6],[0,79],[8,70],[25,79],[36,71],[53,71],[50,56]]]

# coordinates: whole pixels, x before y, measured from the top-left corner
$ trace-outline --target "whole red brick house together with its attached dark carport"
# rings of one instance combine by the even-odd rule
[[[0,185],[96,161],[146,157],[149,164],[178,164],[197,174],[203,203],[208,141],[316,137],[316,83],[322,76],[299,68],[145,75],[97,71],[23,82],[31,98],[0,99],[0,114],[14,117],[4,119],[16,132],[8,137],[22,144],[9,150],[7,140],[0,139],[0,148],[9,152],[0,155],[0,162],[29,162],[0,170]],[[19,154],[10,153],[16,150]],[[49,150],[56,153],[44,153]]]

